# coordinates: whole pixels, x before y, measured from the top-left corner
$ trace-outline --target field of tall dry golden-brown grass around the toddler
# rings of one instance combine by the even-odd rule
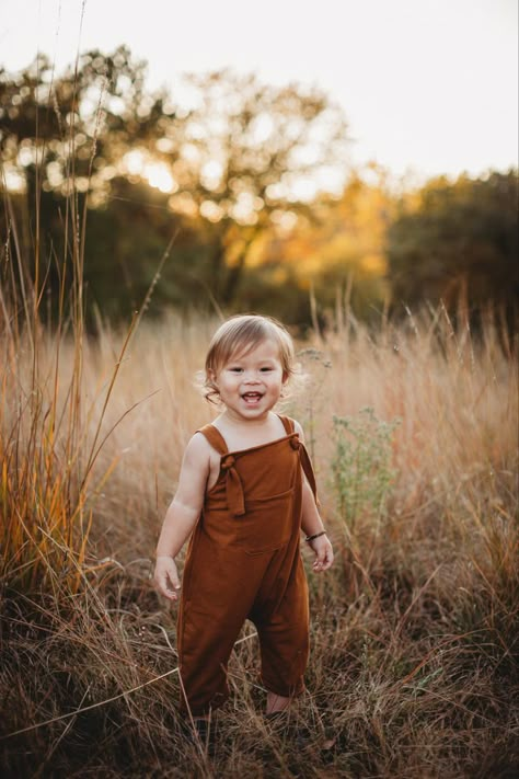
[[[491,314],[475,334],[441,309],[377,332],[342,314],[298,343],[285,406],[336,552],[319,577],[304,551],[311,743],[267,730],[247,623],[211,758],[178,723],[175,614],[150,573],[211,417],[195,385],[216,320],[3,329],[4,777],[516,776],[517,346]]]

